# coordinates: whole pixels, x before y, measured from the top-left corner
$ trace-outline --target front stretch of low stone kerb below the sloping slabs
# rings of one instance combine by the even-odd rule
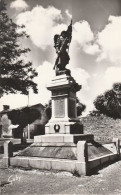
[[[77,175],[86,175],[86,163],[77,160],[37,158],[37,157],[14,157],[10,159],[10,165],[30,169],[68,171]]]

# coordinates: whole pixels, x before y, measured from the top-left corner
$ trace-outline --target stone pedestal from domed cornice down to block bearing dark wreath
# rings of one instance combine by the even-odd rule
[[[82,134],[83,127],[77,118],[76,92],[81,86],[68,75],[56,76],[47,89],[52,92],[52,117],[45,134]]]

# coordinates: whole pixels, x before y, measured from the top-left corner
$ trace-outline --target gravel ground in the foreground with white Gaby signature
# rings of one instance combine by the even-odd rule
[[[1,194],[121,194],[121,161],[91,176],[67,172],[0,169]]]

